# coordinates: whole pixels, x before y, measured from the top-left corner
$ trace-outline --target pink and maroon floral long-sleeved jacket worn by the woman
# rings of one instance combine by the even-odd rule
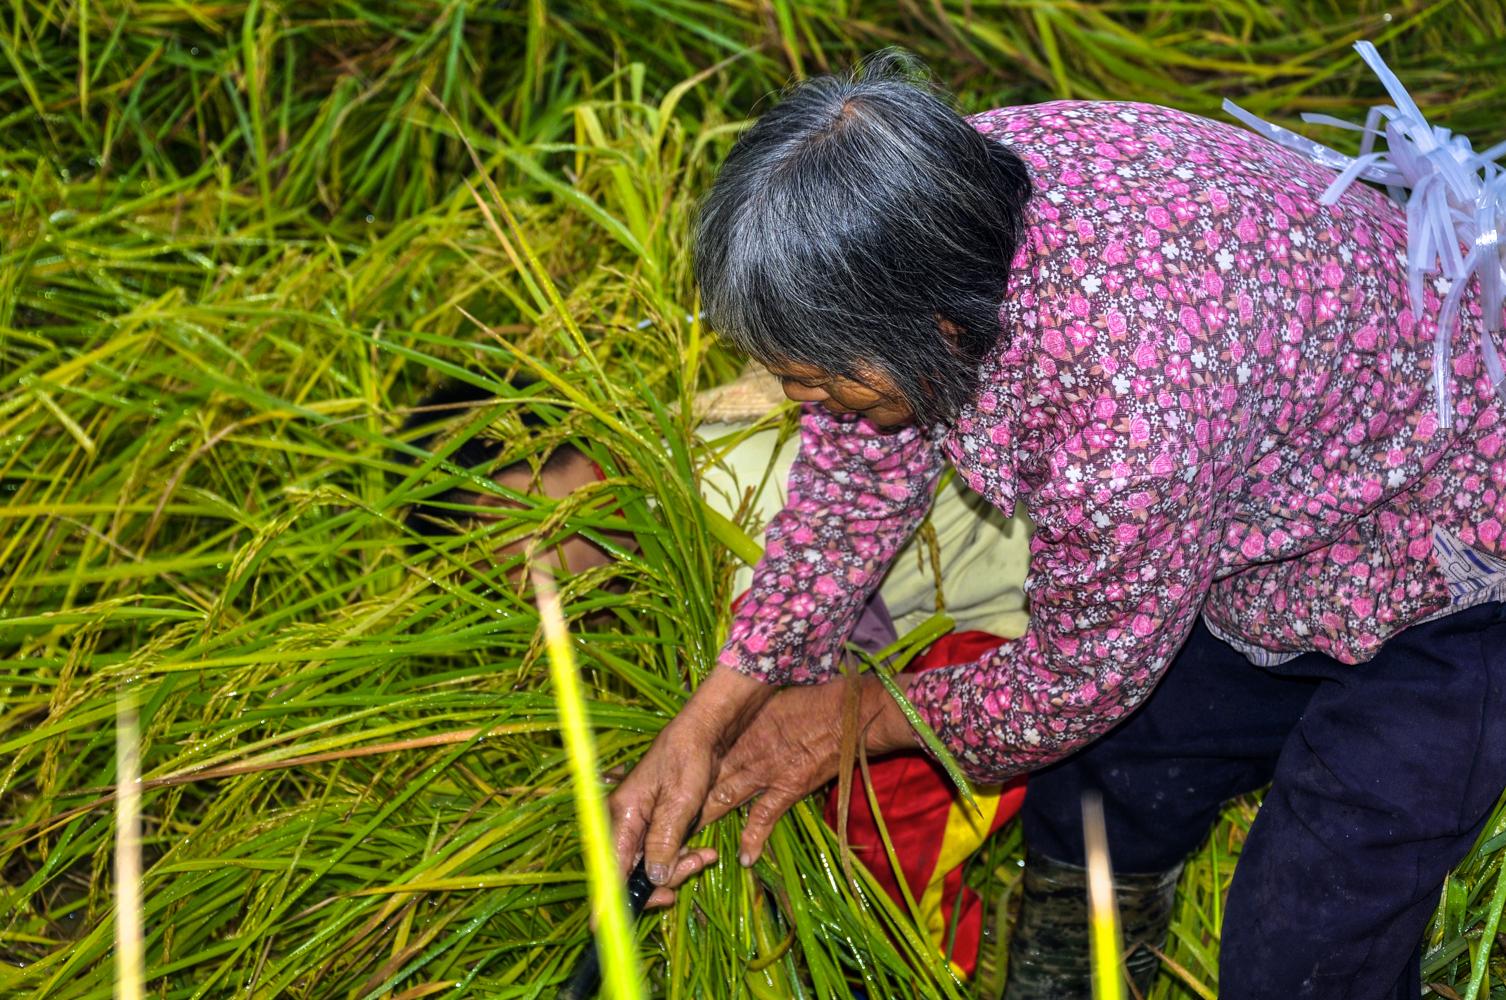
[[[1030,628],[911,697],[971,774],[1057,759],[1134,709],[1202,614],[1265,664],[1372,657],[1501,599],[1506,428],[1480,307],[1432,407],[1438,288],[1408,307],[1407,220],[1238,128],[1143,104],[986,111],[1036,182],[982,390],[952,426],[804,414],[721,663],[828,678],[950,461],[1036,524]],[[1467,330],[1465,330],[1467,327]]]

